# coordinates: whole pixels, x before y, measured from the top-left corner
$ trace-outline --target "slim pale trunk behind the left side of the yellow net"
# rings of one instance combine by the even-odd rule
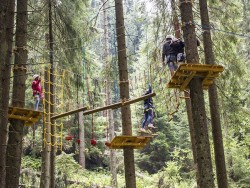
[[[45,89],[45,113],[43,121],[43,151],[42,151],[42,167],[41,167],[41,178],[40,188],[50,187],[50,152],[51,152],[51,126],[50,126],[50,72],[49,68],[46,67],[44,72],[44,89]]]

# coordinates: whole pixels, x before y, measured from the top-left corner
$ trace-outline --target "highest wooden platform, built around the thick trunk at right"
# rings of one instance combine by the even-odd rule
[[[219,77],[219,73],[223,70],[224,67],[221,65],[180,64],[167,87],[179,88],[183,91],[188,89],[188,84],[193,78],[201,78],[203,88],[208,89],[208,86],[213,84],[213,80]]]

